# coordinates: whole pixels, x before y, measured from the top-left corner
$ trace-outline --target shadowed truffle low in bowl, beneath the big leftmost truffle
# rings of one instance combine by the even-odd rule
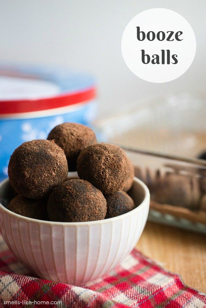
[[[34,200],[18,195],[10,201],[8,209],[22,216],[48,220],[47,199]]]

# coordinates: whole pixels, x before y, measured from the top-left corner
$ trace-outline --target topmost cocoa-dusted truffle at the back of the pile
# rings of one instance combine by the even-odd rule
[[[76,170],[80,151],[97,142],[95,133],[89,127],[77,123],[57,125],[47,139],[54,140],[64,150],[69,171]]]

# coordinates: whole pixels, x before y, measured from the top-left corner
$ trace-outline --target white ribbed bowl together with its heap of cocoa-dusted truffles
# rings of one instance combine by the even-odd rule
[[[8,175],[0,184],[2,237],[38,277],[94,281],[130,253],[144,229],[147,186],[119,146],[97,143],[84,125],[63,123],[47,140],[23,143]]]

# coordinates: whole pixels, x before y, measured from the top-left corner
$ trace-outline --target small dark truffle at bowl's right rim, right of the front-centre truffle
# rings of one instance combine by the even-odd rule
[[[105,218],[116,217],[125,214],[134,209],[134,201],[125,192],[114,193],[113,195],[106,195],[107,200],[107,214]]]

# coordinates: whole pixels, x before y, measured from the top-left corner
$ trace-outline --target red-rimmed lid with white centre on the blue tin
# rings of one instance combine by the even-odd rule
[[[0,116],[67,107],[95,95],[90,75],[62,67],[0,65]]]

